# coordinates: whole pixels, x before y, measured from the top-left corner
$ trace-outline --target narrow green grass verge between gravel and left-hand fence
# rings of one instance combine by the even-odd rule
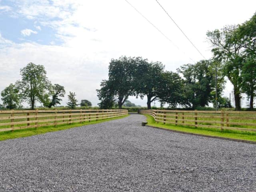
[[[62,124],[62,125],[58,125],[57,127],[44,126],[44,127],[39,127],[37,129],[27,128],[27,129],[22,129],[22,130],[14,130],[14,132],[5,131],[5,132],[0,132],[0,141],[7,140],[7,139],[20,138],[20,137],[28,137],[28,136],[32,136],[32,135],[38,135],[38,134],[44,134],[44,133],[53,132],[53,131],[60,131],[60,130],[70,129],[70,128],[74,128],[74,127],[78,127],[78,126],[97,124],[97,123],[101,123],[101,122],[124,118],[127,116],[129,116],[129,115],[125,115],[125,116],[121,116],[121,117],[114,117],[114,118],[109,118],[109,119],[103,119],[103,120],[98,120],[98,121],[94,120],[91,122],[84,122],[84,123],[71,123],[70,125]]]

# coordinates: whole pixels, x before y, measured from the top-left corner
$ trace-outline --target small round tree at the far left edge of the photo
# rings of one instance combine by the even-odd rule
[[[19,90],[12,83],[2,90],[1,96],[4,106],[8,109],[15,109],[20,105]]]

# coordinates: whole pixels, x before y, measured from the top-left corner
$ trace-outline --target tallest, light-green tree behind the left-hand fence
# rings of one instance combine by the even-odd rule
[[[46,70],[42,65],[29,63],[20,70],[20,75],[22,79],[17,84],[22,99],[28,100],[33,110],[35,101],[42,102],[40,99],[46,94],[46,90],[48,90],[50,85],[46,77]]]

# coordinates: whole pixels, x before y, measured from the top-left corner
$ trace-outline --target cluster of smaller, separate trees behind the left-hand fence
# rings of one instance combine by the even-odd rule
[[[36,101],[46,108],[52,108],[60,104],[62,97],[66,94],[64,86],[52,84],[47,76],[46,70],[42,65],[29,63],[20,69],[21,80],[10,84],[1,92],[3,105],[0,108],[17,109],[23,108],[22,102],[28,102],[31,109],[35,108]],[[78,100],[75,92],[69,92],[67,107],[70,109],[76,106],[91,107],[92,103],[88,100]]]

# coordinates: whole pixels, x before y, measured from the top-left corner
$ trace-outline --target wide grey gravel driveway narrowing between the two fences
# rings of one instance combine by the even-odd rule
[[[126,118],[0,142],[0,191],[255,192],[256,145]]]

